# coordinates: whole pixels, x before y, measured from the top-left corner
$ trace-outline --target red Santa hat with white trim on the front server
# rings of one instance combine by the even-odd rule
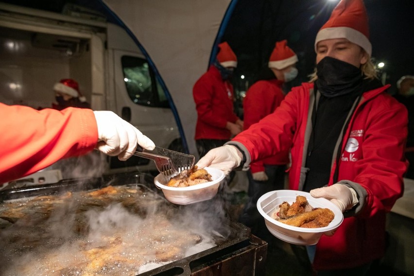
[[[341,0],[336,5],[330,18],[316,35],[315,51],[319,41],[334,38],[346,38],[361,46],[371,56],[368,16],[362,0]]]

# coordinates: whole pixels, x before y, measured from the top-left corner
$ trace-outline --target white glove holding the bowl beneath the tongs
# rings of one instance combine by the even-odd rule
[[[240,166],[242,162],[240,155],[239,150],[235,146],[225,145],[208,151],[196,165],[199,169],[211,167],[220,169],[225,174],[228,174],[231,170]]]

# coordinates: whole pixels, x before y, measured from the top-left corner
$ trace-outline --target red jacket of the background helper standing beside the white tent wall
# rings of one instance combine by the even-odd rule
[[[220,71],[210,66],[195,83],[192,94],[198,115],[195,139],[229,140],[227,121],[235,123],[239,119],[234,113],[231,83],[224,82]]]

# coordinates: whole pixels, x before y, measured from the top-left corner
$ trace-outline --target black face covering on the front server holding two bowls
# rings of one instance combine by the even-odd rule
[[[360,88],[361,69],[345,61],[326,56],[316,65],[316,86],[327,98],[345,95]]]

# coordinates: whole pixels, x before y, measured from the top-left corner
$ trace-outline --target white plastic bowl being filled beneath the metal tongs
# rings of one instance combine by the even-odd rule
[[[213,181],[197,184],[189,187],[168,187],[166,184],[174,175],[165,176],[158,174],[155,176],[155,185],[162,190],[165,198],[175,204],[186,205],[212,199],[219,189],[220,183],[224,179],[224,172],[215,168],[205,168],[211,175]]]

